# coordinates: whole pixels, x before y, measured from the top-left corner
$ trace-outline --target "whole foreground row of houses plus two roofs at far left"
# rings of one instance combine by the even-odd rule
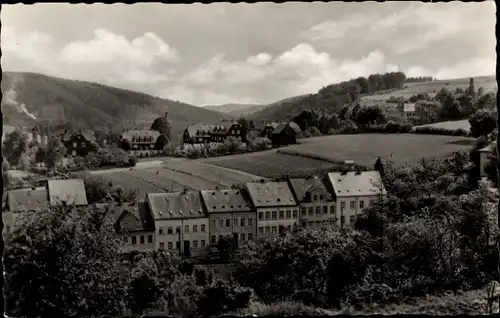
[[[139,203],[112,207],[123,251],[203,254],[225,236],[238,244],[291,231],[294,226],[351,226],[386,194],[377,171],[331,172],[325,178],[247,183],[242,189],[149,193]],[[87,205],[83,181],[50,180],[44,188],[9,191],[5,230],[21,212],[62,203]]]

